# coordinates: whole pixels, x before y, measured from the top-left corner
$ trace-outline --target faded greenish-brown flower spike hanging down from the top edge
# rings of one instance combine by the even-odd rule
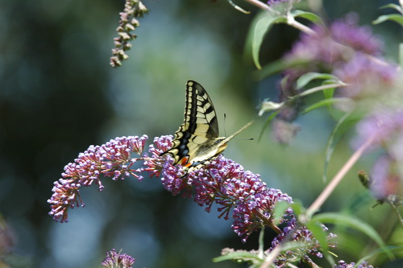
[[[126,0],[123,12],[120,12],[119,26],[116,28],[118,37],[115,37],[115,48],[112,49],[113,56],[110,57],[110,65],[113,68],[122,65],[122,61],[129,58],[126,51],[131,48],[131,41],[137,35],[133,33],[140,26],[136,18],[143,17],[148,13],[148,9],[141,1]]]

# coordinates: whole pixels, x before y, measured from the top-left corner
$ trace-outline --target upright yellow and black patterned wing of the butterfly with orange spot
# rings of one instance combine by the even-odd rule
[[[174,165],[186,165],[217,138],[217,115],[209,95],[197,82],[187,81],[184,122],[175,132],[172,148],[161,155],[172,155]]]

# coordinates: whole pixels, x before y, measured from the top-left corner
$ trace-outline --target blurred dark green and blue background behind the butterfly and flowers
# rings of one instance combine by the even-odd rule
[[[355,11],[369,25],[390,0],[324,1],[331,21]],[[397,4],[397,1],[394,1]],[[135,267],[244,267],[213,263],[224,247],[257,248],[257,233],[246,244],[230,229],[231,220],[206,213],[192,199],[172,196],[158,178],[104,179],[105,189],[81,190],[85,208],[70,211],[69,223],[48,215],[46,200],[63,166],[89,145],[129,135],[174,133],[182,122],[185,82],[195,80],[215,104],[221,134],[255,116],[255,107],[278,95],[273,76],[255,81],[243,56],[247,30],[256,9],[227,1],[145,0],[150,14],[141,19],[138,39],[123,66],[109,66],[123,1],[0,1],[0,213],[7,232],[2,256],[11,267],[100,267],[106,251],[123,248]],[[302,5],[304,5],[302,3]],[[305,21],[301,21],[306,23]],[[386,22],[372,27],[385,41],[385,57],[397,56],[403,31]],[[281,57],[298,31],[275,26],[265,38],[262,63]],[[273,140],[270,129],[257,143],[264,120],[231,141],[225,155],[262,175],[305,206],[323,189],[324,149],[334,121],[324,110],[298,119],[301,130],[289,146]],[[334,174],[351,154],[349,132],[330,163]],[[150,144],[150,143],[149,143]],[[403,232],[387,206],[375,204],[355,172],[371,165],[366,156],[330,196],[323,211],[343,211],[372,225],[389,245],[402,245]],[[376,249],[368,237],[330,226],[339,235],[334,252],[356,261]],[[274,232],[266,231],[266,243]],[[8,254],[4,254],[5,252]],[[325,263],[325,262],[323,262]],[[373,259],[379,267],[401,267],[399,259]],[[328,265],[328,264],[323,264]]]

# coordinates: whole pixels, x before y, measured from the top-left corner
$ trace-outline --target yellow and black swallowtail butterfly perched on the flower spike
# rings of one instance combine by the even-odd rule
[[[209,94],[200,84],[189,80],[186,83],[183,124],[175,132],[171,149],[161,156],[171,155],[174,158],[173,165],[182,165],[186,175],[220,155],[227,143],[253,122],[254,120],[250,121],[230,137],[218,137],[216,110]]]

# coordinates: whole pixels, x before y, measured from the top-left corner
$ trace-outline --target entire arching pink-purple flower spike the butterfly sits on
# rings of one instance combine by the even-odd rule
[[[49,215],[55,221],[67,222],[68,209],[83,204],[80,187],[96,184],[99,190],[103,189],[100,175],[114,180],[128,176],[141,180],[141,173],[148,173],[150,177],[161,175],[164,188],[173,195],[193,196],[194,201],[207,212],[212,210],[213,205],[217,206],[221,212],[219,217],[232,219],[231,228],[243,242],[252,232],[265,227],[280,233],[276,241],[281,241],[287,230],[295,227],[291,208],[281,219],[288,229],[281,231],[274,225],[272,216],[276,203],[283,201],[291,204],[292,198],[278,189],[267,187],[260,175],[245,170],[222,155],[205,167],[186,174],[182,166],[172,165],[172,157],[160,156],[172,147],[172,136],[155,138],[148,152],[143,152],[147,138],[122,137],[102,146],[90,146],[74,163],[64,167],[62,178],[54,183],[52,197],[48,200],[51,205]],[[131,154],[137,154],[137,157],[132,158]],[[142,166],[135,168],[133,165],[139,161]],[[301,229],[295,234],[293,239],[310,241],[311,251],[308,253],[319,255],[320,246],[310,231]]]

